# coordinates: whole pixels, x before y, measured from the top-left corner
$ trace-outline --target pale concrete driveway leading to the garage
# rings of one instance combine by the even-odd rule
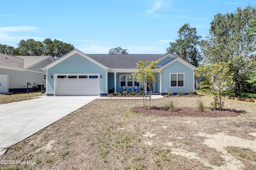
[[[99,96],[42,96],[0,105],[0,155]]]

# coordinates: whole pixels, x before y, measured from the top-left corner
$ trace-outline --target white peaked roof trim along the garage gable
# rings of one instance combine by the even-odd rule
[[[68,57],[71,57],[74,54],[79,54],[82,55],[82,57],[92,61],[95,64],[98,64],[99,66],[101,66],[102,68],[104,68],[105,70],[108,70],[109,68],[107,66],[104,66],[103,64],[99,63],[98,61],[92,59],[91,57],[89,57],[88,55],[82,53],[81,51],[79,51],[78,49],[74,49],[72,51],[70,51],[69,53],[65,54],[64,56],[60,57],[59,59],[55,60],[54,62],[47,64],[46,66],[42,67],[42,70],[47,70],[49,68],[51,68],[52,66],[55,66],[56,64],[64,61],[65,59],[67,59]]]

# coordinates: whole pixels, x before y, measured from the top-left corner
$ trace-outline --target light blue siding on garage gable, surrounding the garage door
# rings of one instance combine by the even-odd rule
[[[77,53],[48,69],[48,94],[54,94],[54,74],[100,74],[100,93],[107,93],[106,70]]]

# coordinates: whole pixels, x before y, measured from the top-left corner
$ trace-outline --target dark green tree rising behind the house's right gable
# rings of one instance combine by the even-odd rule
[[[178,31],[179,39],[176,42],[170,42],[170,47],[166,49],[167,53],[175,53],[185,61],[198,66],[202,60],[200,52],[197,49],[201,36],[196,35],[196,28],[191,28],[189,23],[185,23]]]

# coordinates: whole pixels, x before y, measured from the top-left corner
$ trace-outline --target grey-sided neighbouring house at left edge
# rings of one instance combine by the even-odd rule
[[[52,63],[50,56],[12,56],[0,53],[0,93],[31,91],[32,86],[44,90],[46,74],[43,66]]]

